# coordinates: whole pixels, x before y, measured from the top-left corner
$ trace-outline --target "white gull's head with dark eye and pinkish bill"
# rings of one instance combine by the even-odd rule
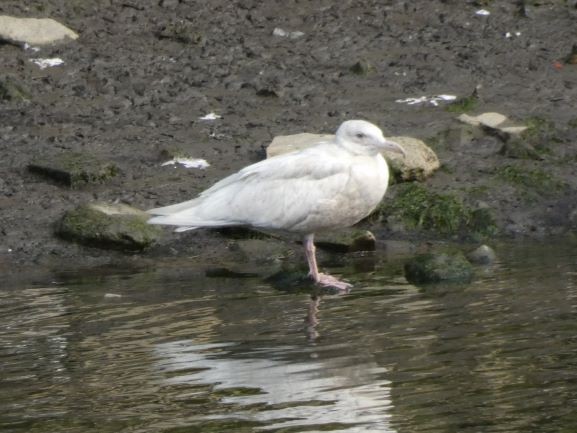
[[[354,153],[374,155],[389,150],[406,156],[405,149],[394,141],[387,140],[383,131],[365,120],[347,120],[337,129],[336,142]]]

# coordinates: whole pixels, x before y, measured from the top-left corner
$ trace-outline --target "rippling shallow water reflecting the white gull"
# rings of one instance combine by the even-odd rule
[[[499,255],[424,289],[383,258],[320,299],[176,262],[6,284],[0,431],[577,431],[577,249]]]

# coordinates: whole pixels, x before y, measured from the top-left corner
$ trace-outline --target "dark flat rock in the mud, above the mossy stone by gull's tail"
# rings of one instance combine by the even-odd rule
[[[36,160],[28,165],[28,170],[71,188],[101,184],[120,172],[116,164],[77,152],[65,152],[47,160]]]

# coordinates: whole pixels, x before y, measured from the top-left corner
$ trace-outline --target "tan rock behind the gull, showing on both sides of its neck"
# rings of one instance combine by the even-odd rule
[[[332,134],[310,134],[303,132],[293,135],[279,135],[273,138],[266,149],[267,158],[295,150],[306,149],[322,141],[334,139]],[[424,180],[440,167],[439,158],[423,141],[412,137],[390,137],[407,151],[407,157],[393,152],[383,152],[390,163],[393,175],[401,181]]]

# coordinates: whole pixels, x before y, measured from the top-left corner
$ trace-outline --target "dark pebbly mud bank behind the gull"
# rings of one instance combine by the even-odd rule
[[[481,7],[491,14],[476,15]],[[0,79],[29,99],[0,99],[0,269],[117,262],[128,256],[60,240],[54,225],[93,200],[147,209],[189,199],[262,159],[275,135],[332,133],[353,118],[425,139],[443,164],[427,187],[489,207],[502,236],[569,233],[577,222],[577,65],[566,62],[575,1],[3,0],[0,13],[51,17],[80,35],[38,53],[0,45]],[[273,36],[277,27],[304,36]],[[65,63],[41,70],[34,57]],[[470,114],[538,120],[525,138],[542,158],[503,155],[491,135],[463,140],[445,106],[395,102],[475,88]],[[213,111],[222,119],[199,120]],[[161,167],[167,149],[211,167]],[[26,169],[64,151],[121,174],[71,189]],[[167,231],[153,253],[218,257],[224,239]]]

